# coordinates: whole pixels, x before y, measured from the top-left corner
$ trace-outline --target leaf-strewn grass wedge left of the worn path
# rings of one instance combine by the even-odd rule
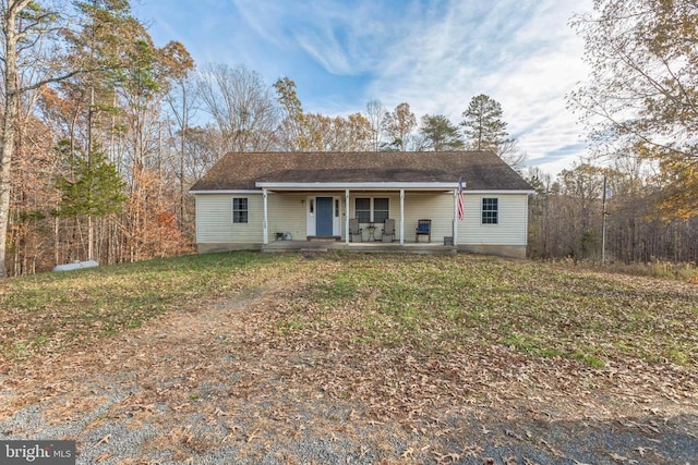
[[[172,309],[195,308],[202,298],[260,285],[294,259],[251,252],[192,255],[2,280],[0,354],[23,359],[84,346]]]

